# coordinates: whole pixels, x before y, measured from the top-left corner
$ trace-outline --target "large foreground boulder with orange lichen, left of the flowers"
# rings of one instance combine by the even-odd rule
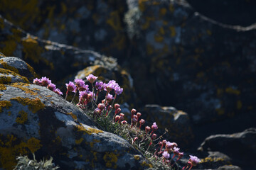
[[[37,159],[53,157],[60,169],[151,166],[127,141],[98,129],[85,113],[46,87],[3,82],[0,97],[3,169],[13,169],[19,154],[31,153]]]

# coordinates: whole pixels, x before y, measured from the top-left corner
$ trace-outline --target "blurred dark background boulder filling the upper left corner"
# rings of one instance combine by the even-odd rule
[[[39,38],[105,55],[125,55],[126,1],[1,1],[0,14]],[[22,18],[22,19],[21,19]]]

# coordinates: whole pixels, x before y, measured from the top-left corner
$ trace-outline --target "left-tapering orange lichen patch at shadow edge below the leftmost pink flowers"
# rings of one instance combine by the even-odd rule
[[[28,109],[31,110],[32,113],[36,113],[37,111],[45,107],[45,105],[41,102],[39,98],[30,99],[30,98],[16,97],[16,98],[11,98],[10,100],[18,101],[18,103],[21,103],[23,106],[28,106]]]

